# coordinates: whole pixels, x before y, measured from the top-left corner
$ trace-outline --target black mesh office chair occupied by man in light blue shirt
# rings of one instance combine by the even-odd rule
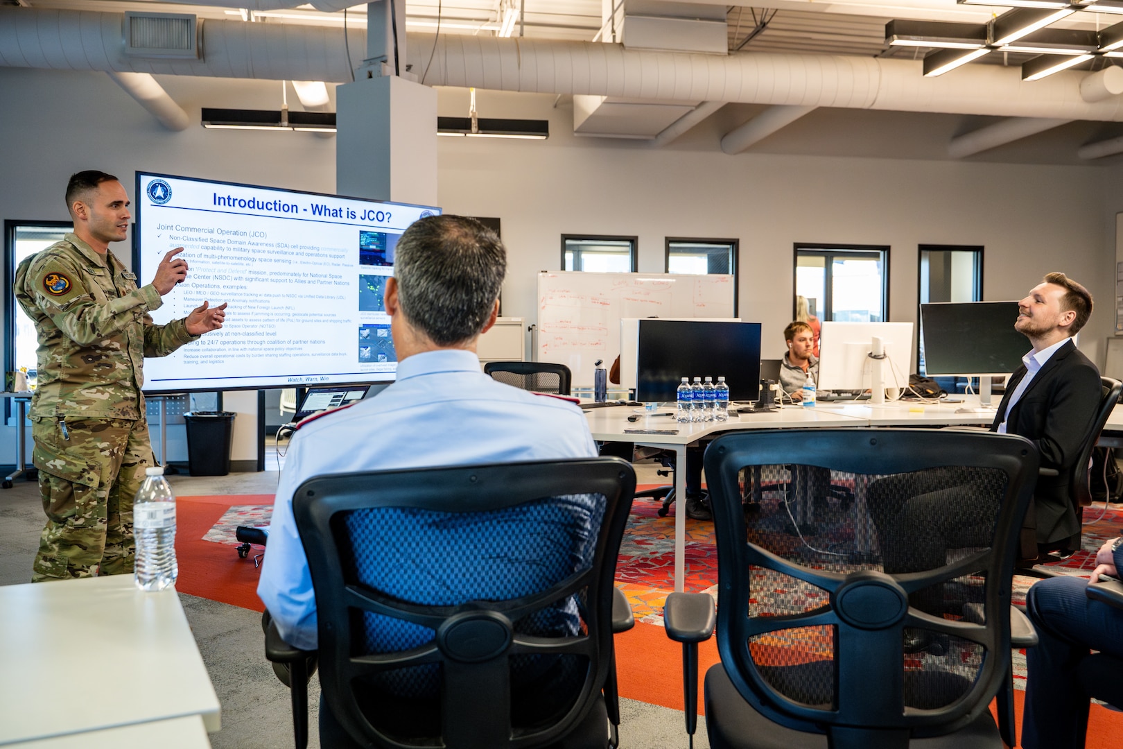
[[[325,711],[362,746],[614,747],[613,586],[636,486],[617,458],[319,476],[293,497]],[[307,743],[311,654],[266,657]],[[282,681],[285,681],[282,678]],[[611,742],[610,742],[611,741]]]

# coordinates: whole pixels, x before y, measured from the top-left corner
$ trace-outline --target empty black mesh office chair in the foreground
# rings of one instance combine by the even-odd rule
[[[853,490],[851,511],[837,513],[814,544],[783,532],[783,505],[746,523],[738,474],[778,465],[829,468],[831,483]],[[965,484],[933,496],[933,478],[949,465]],[[721,664],[705,679],[710,746],[1001,747],[987,704],[1008,668],[1010,581],[1037,467],[1031,442],[1003,435],[839,429],[714,440],[705,471],[718,537]],[[889,557],[868,510],[883,478],[905,488],[905,515],[923,520],[921,510],[934,500],[956,520],[940,529],[934,566],[882,572]],[[987,623],[911,608],[911,597],[932,593],[949,611],[982,604]],[[712,599],[672,594],[664,621],[668,637],[683,642],[692,732],[696,648],[713,632]],[[913,647],[916,640],[942,643],[943,655]]]

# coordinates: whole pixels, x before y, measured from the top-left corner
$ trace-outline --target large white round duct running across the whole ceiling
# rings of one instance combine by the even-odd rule
[[[365,33],[350,31],[365,49]],[[121,15],[0,9],[0,65],[173,75],[344,82],[343,29],[207,20],[203,60],[128,57]],[[436,44],[432,64],[430,51]],[[1085,73],[1023,82],[1017,67],[968,65],[924,77],[917,61],[812,54],[729,56],[624,49],[619,44],[410,35],[409,62],[426,83],[500,91],[585,93],[666,101],[724,101],[914,112],[1123,120],[1123,97],[1088,102]],[[362,53],[359,53],[362,54]]]

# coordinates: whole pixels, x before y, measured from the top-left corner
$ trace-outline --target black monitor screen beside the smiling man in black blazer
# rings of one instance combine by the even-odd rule
[[[1017,302],[921,304],[921,341],[928,375],[1007,374],[1032,348],[1014,330]]]

